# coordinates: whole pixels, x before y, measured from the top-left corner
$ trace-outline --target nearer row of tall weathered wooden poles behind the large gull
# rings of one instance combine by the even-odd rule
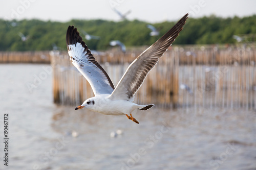
[[[142,50],[95,55],[114,85]],[[255,45],[170,48],[146,77],[135,103],[169,107],[256,109]],[[94,96],[67,52],[52,55],[54,102],[80,105]],[[184,88],[186,87],[186,88]]]

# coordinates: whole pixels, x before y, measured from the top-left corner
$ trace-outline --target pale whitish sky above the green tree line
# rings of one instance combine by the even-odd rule
[[[11,0],[0,5],[0,18],[6,20],[40,19],[69,21],[71,19],[120,20],[113,8],[126,13],[129,20],[156,23],[176,21],[187,12],[198,18],[214,14],[221,17],[256,14],[254,0]]]

